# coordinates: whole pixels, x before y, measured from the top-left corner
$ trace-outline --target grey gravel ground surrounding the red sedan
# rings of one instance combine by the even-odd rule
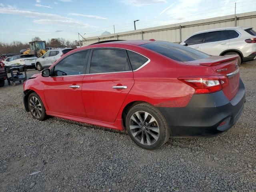
[[[24,110],[22,85],[5,85],[0,191],[256,192],[256,62],[240,69],[246,104],[232,129],[214,138],[171,138],[155,151],[139,148],[125,133],[60,118],[34,120]]]

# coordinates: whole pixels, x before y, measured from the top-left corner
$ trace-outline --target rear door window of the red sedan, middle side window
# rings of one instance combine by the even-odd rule
[[[130,71],[126,52],[114,49],[97,49],[92,52],[90,73]]]

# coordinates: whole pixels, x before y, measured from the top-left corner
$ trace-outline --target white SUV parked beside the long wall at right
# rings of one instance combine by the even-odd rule
[[[238,64],[256,59],[256,32],[251,27],[212,29],[192,34],[181,42],[210,55],[238,55]]]

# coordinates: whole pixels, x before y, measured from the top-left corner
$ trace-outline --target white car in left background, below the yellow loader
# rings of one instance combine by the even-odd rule
[[[37,57],[34,55],[15,55],[6,58],[6,60],[4,61],[4,68],[8,73],[10,72],[8,66],[12,65],[25,65],[26,69],[36,69],[36,59]]]

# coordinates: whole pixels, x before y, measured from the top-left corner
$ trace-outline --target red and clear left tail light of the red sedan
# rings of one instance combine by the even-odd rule
[[[195,94],[213,93],[228,85],[226,76],[180,77],[178,80],[195,89]]]

